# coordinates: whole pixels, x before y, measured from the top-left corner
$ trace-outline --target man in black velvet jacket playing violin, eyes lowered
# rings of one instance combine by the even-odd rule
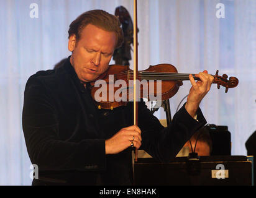
[[[213,82],[207,71],[196,74],[198,82],[190,75],[188,99],[166,128],[144,102],[138,126],[131,102],[99,110],[89,83],[108,69],[121,46],[120,22],[105,11],[88,11],[68,33],[71,56],[64,65],[37,72],[25,87],[22,126],[30,160],[39,168],[33,185],[130,185],[131,146],[168,161],[206,124],[199,103]]]

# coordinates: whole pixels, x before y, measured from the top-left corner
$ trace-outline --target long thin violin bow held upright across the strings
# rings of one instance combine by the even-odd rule
[[[137,101],[137,77],[138,77],[138,45],[137,45],[137,0],[134,0],[134,125],[138,126],[138,101]],[[138,160],[138,149],[135,148],[135,161]]]

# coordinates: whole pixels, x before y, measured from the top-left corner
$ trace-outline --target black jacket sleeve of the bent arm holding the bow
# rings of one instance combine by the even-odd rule
[[[22,127],[30,160],[39,170],[105,169],[105,140],[60,140],[58,114],[37,77],[30,77],[25,87]]]

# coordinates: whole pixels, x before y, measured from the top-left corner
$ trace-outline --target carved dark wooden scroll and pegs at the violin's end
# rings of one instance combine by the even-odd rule
[[[213,75],[214,80],[213,83],[217,84],[217,88],[220,88],[220,85],[222,85],[223,87],[225,87],[225,93],[227,93],[227,90],[229,90],[229,88],[233,88],[236,87],[238,85],[238,79],[236,77],[229,77],[227,76],[227,74],[223,74],[222,76],[219,75],[219,70],[216,71],[216,74]]]

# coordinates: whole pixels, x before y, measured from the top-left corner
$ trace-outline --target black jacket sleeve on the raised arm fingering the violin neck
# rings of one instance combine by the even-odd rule
[[[173,116],[168,127],[163,127],[146,106],[139,107],[139,127],[142,131],[142,147],[152,157],[160,161],[170,161],[174,158],[187,140],[200,127],[206,124],[200,108],[197,111],[197,119],[193,119],[185,109],[185,104]],[[140,116],[142,115],[143,116]]]

